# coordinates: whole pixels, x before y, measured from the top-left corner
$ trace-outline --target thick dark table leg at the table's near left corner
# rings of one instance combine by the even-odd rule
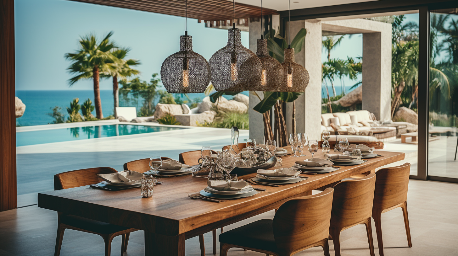
[[[145,231],[145,256],[185,256],[185,234],[167,236]]]

